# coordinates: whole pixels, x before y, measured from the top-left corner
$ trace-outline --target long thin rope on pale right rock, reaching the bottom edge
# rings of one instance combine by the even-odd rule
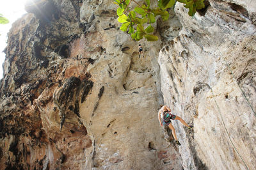
[[[204,49],[201,45],[198,45],[198,46],[200,46],[202,49]],[[218,103],[217,103],[217,101],[216,101],[216,98],[214,97],[214,93],[213,93],[213,90],[212,90],[212,83],[211,83],[211,77],[210,77],[209,69],[208,69],[208,67],[207,67],[207,65],[206,65],[206,63],[205,63],[205,59],[203,59],[203,61],[204,61],[204,65],[205,65],[205,67],[206,67],[206,69],[207,69],[207,74],[208,74],[208,77],[209,77],[209,83],[210,83],[210,88],[211,88],[212,97],[214,98],[214,102],[215,102],[215,104],[216,104],[216,107],[218,108],[218,112],[219,112],[219,114],[220,114],[221,121],[222,121],[223,127],[225,128],[225,131],[226,131],[226,134],[227,134],[227,136],[228,136],[228,139],[229,139],[230,143],[232,144],[234,150],[236,151],[237,155],[239,155],[239,158],[241,158],[241,160],[243,161],[244,166],[246,166],[246,169],[249,169],[248,166],[247,166],[247,164],[244,162],[244,159],[241,157],[239,151],[237,151],[236,146],[235,146],[234,143],[232,142],[230,135],[228,135],[229,132],[228,132],[228,130],[227,130],[227,127],[226,127],[226,125],[225,125],[223,116],[222,116],[222,114],[221,114],[220,106],[218,105]]]

